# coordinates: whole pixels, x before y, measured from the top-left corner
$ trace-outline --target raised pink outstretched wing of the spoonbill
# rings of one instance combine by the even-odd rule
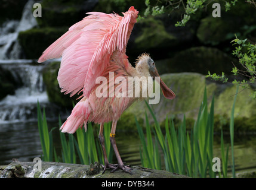
[[[91,93],[95,80],[109,65],[115,50],[124,52],[136,23],[138,11],[134,7],[121,17],[117,14],[88,12],[82,21],[74,24],[63,36],[49,46],[38,62],[62,56],[58,71],[61,92],[70,96],[83,89]]]

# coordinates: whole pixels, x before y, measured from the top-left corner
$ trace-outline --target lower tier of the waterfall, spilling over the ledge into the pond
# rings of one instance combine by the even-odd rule
[[[31,60],[0,61],[0,66],[10,71],[17,83],[22,84],[14,95],[9,94],[0,102],[0,124],[35,121],[37,101],[45,106],[50,118],[54,117],[54,109],[57,107],[50,106],[42,79],[45,65],[47,63],[35,65]]]

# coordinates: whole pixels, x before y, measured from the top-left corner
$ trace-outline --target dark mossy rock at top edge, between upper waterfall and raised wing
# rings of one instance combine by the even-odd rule
[[[97,1],[43,0],[42,17],[37,17],[39,27],[70,27],[81,21]]]

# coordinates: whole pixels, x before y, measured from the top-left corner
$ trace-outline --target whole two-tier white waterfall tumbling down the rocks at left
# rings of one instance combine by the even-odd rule
[[[18,44],[18,33],[36,26],[32,7],[34,1],[27,1],[20,21],[9,20],[0,28],[0,67],[21,84],[14,94],[0,100],[0,124],[37,121],[37,102],[45,107],[47,118],[56,119],[60,108],[48,101],[42,71],[50,61],[43,64],[22,59]],[[55,60],[56,61],[56,60]],[[59,60],[58,60],[59,61]]]

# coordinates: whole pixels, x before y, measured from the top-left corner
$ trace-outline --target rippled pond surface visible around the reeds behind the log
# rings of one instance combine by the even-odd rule
[[[60,155],[61,144],[58,135],[58,123],[49,122],[48,126],[54,129],[53,141],[57,154]],[[94,128],[94,130],[96,130]],[[97,137],[95,137],[97,138]],[[214,157],[221,157],[218,135],[214,137]],[[224,139],[229,144],[229,136]],[[134,132],[116,131],[116,144],[124,162],[132,165],[141,165],[141,142],[134,128]],[[230,145],[229,145],[230,147]],[[229,164],[231,163],[231,150]],[[35,157],[41,157],[42,148],[36,122],[0,124],[0,165],[9,164],[13,158],[22,162],[32,162]],[[78,161],[79,162],[79,161]],[[116,162],[115,156],[113,162]],[[164,163],[164,160],[162,161]],[[256,137],[242,135],[235,137],[235,164],[236,172],[256,169]],[[163,167],[164,169],[164,167]]]

